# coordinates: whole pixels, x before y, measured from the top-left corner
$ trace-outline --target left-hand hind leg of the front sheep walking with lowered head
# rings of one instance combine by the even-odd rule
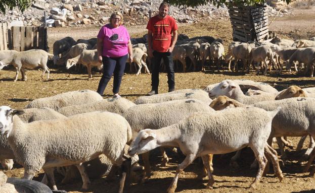
[[[259,165],[259,168],[258,168],[258,171],[257,171],[257,174],[256,174],[256,178],[253,181],[253,183],[250,184],[251,188],[255,188],[260,182],[260,178],[261,178],[262,173],[264,171],[264,168],[265,168],[265,166],[267,164],[267,158],[264,156],[263,148],[255,147],[255,148],[252,148],[252,150],[253,150],[253,152],[255,154],[256,160],[257,160],[258,165]]]

